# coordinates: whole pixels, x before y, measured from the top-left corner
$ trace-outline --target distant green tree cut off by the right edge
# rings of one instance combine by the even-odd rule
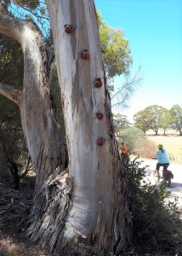
[[[179,131],[179,136],[182,136],[182,108],[176,104],[170,109],[171,128]]]

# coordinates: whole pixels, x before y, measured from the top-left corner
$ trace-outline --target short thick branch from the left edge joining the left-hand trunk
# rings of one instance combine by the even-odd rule
[[[10,101],[14,102],[20,107],[22,90],[9,86],[8,84],[0,83],[0,94],[9,98]]]

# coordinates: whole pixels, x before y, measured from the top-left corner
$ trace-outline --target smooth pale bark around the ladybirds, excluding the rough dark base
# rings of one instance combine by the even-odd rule
[[[67,225],[88,236],[94,222],[105,227],[111,218],[114,171],[107,120],[110,113],[106,109],[109,99],[94,3],[90,0],[47,0],[46,3],[54,33],[69,169],[74,181]],[[74,26],[74,32],[66,34],[65,24]],[[88,49],[90,54],[87,61],[81,58],[83,49]],[[96,78],[102,79],[100,89],[94,87]],[[104,113],[104,119],[95,118],[98,110]],[[96,144],[98,137],[104,137],[103,146]],[[66,234],[73,236],[70,229]]]

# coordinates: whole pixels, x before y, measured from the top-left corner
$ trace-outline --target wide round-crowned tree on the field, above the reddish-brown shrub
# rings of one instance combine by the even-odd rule
[[[158,105],[151,105],[134,115],[134,125],[144,132],[151,129],[155,131],[157,135],[158,130],[162,128],[162,121],[166,113],[168,113],[167,108],[163,108]]]

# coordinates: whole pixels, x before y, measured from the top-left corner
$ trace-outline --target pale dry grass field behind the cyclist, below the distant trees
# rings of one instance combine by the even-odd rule
[[[182,164],[182,137],[175,131],[166,132],[166,136],[163,136],[162,133],[160,131],[159,135],[155,136],[154,132],[149,131],[146,136],[149,140],[156,143],[156,146],[162,144],[173,162]]]

